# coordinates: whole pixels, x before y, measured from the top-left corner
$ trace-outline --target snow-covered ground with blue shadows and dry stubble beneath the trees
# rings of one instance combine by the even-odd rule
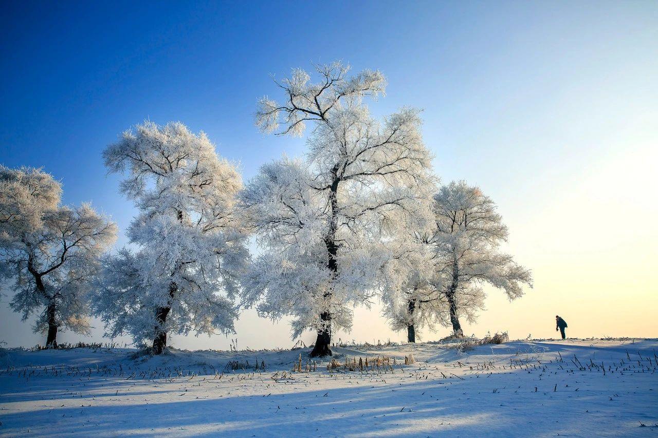
[[[658,436],[657,339],[335,348],[393,371],[290,373],[307,351],[0,350],[0,435]]]

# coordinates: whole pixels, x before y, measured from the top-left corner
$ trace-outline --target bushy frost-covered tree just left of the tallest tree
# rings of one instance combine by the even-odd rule
[[[136,126],[103,157],[110,172],[125,175],[120,189],[139,210],[128,229],[134,251],[103,260],[93,309],[107,335],[152,341],[160,354],[170,332],[233,332],[249,258],[235,214],[236,166],[203,132],[178,122]]]

